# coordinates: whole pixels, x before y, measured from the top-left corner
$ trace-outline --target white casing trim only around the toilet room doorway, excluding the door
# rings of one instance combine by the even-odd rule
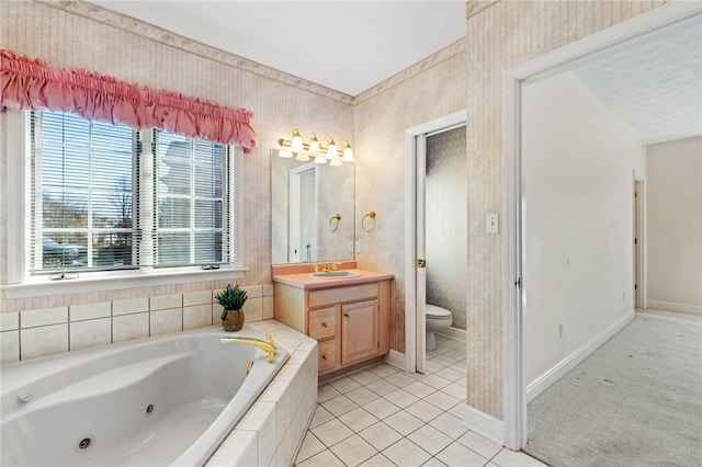
[[[417,136],[467,124],[466,110],[444,115],[405,130],[405,368],[417,367]]]

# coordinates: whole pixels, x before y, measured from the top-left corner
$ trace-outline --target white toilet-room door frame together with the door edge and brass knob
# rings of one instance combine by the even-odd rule
[[[411,373],[427,367],[427,138],[465,125],[464,110],[405,132],[405,369]]]

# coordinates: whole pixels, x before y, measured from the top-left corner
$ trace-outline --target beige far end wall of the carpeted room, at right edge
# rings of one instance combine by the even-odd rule
[[[702,312],[702,137],[647,147],[648,308]]]

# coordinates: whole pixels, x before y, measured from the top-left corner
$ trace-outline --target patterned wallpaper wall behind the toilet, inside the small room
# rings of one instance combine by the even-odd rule
[[[427,303],[451,311],[465,330],[466,185],[465,126],[427,138]]]

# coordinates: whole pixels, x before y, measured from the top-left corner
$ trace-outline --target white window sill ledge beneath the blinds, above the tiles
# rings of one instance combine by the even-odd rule
[[[82,277],[49,281],[37,280],[24,284],[2,285],[8,299],[34,298],[58,294],[78,294],[81,292],[105,292],[135,287],[155,287],[159,285],[182,284],[185,282],[205,282],[244,277],[248,267],[219,270],[158,271],[148,274],[138,271],[111,273],[109,275],[86,274]]]

